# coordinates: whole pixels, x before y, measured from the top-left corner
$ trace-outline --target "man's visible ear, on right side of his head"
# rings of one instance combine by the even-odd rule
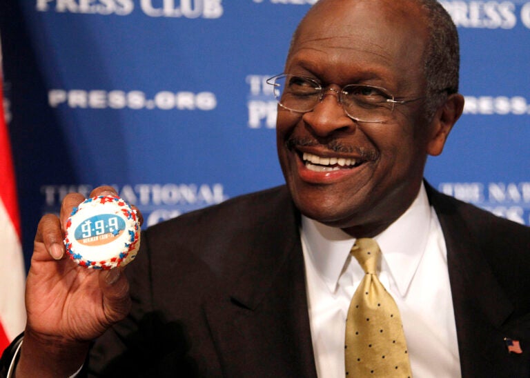
[[[444,150],[445,141],[453,125],[464,110],[464,97],[460,93],[449,94],[445,103],[438,108],[431,121],[431,138],[427,144],[427,153],[438,156]]]

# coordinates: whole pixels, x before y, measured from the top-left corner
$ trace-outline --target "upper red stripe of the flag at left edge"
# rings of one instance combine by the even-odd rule
[[[20,216],[17,202],[17,188],[14,181],[13,161],[6,118],[3,115],[3,92],[0,76],[0,199],[6,206],[11,223],[21,238]]]

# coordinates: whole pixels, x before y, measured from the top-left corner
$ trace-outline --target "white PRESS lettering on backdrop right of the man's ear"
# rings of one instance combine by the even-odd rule
[[[467,115],[530,115],[530,101],[524,97],[465,96]]]

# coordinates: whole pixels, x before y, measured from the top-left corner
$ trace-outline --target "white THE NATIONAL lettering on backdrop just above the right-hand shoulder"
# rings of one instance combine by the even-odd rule
[[[500,217],[530,225],[530,182],[440,183],[438,189]]]

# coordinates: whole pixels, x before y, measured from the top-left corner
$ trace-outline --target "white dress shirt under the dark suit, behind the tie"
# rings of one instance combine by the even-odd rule
[[[424,186],[404,214],[374,238],[379,278],[400,309],[414,377],[460,377],[446,246]],[[318,377],[344,378],[344,332],[364,271],[340,228],[302,217],[311,337]]]

